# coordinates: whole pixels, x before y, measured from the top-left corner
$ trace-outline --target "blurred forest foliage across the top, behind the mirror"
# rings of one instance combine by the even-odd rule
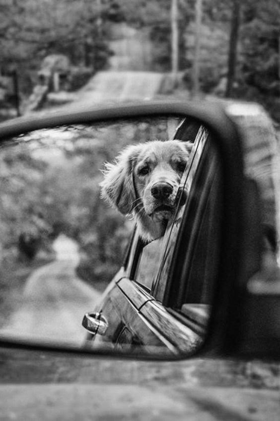
[[[201,34],[201,87],[209,92],[226,75],[225,55],[236,3],[240,5],[241,19],[233,95],[267,101],[277,98],[280,3],[275,0],[203,2],[203,28],[207,30]],[[126,21],[150,30],[150,70],[170,71],[170,6],[170,0],[0,0],[0,66],[2,70],[14,66],[20,70],[24,94],[30,92],[36,71],[48,54],[66,54],[76,66],[104,68],[111,53],[106,41],[110,25]],[[178,0],[178,7],[179,69],[189,71],[195,0]]]

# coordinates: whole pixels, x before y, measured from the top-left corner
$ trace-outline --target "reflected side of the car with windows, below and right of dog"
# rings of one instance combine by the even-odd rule
[[[192,352],[203,341],[216,271],[211,263],[218,250],[214,233],[220,199],[217,159],[208,140],[201,127],[181,180],[188,199],[165,234],[146,244],[136,229],[124,268],[98,309],[108,329],[96,335],[95,346],[146,352],[162,347],[179,353]]]

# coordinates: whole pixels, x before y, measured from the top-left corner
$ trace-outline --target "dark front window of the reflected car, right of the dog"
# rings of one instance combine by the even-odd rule
[[[204,169],[207,167],[205,163]],[[195,189],[200,197],[196,210],[197,222],[193,226],[193,241],[186,250],[178,295],[172,306],[191,320],[202,324],[209,319],[218,270],[216,262],[220,251],[222,186],[217,168],[216,157],[212,156],[207,175],[206,171],[202,171],[201,178],[205,177],[204,188]]]

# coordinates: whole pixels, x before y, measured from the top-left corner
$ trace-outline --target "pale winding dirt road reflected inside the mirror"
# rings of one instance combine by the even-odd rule
[[[26,282],[20,306],[1,335],[15,338],[81,344],[84,313],[94,307],[100,293],[75,274],[77,245],[60,235],[54,244],[57,259],[35,270]]]

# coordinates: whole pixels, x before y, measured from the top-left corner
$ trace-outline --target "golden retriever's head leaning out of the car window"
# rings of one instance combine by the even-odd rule
[[[162,236],[172,220],[192,145],[180,140],[140,143],[127,147],[114,164],[105,164],[101,197],[132,214],[144,240]]]

